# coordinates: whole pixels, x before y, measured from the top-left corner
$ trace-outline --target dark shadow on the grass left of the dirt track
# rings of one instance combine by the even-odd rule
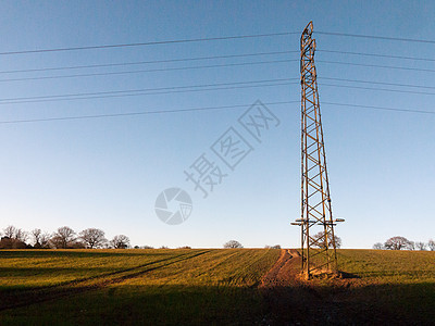
[[[263,316],[256,288],[113,286],[0,312],[18,325],[254,325]]]

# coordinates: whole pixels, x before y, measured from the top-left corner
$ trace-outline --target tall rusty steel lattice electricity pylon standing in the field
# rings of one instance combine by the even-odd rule
[[[308,279],[314,274],[337,272],[334,226],[344,221],[334,221],[331,208],[312,33],[310,22],[300,38],[301,218],[291,223],[301,227],[302,274]]]

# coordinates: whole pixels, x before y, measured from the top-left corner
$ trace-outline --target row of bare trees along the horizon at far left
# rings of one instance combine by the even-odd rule
[[[28,233],[10,225],[0,235],[0,249],[126,249],[130,247],[127,236],[116,235],[108,240],[104,231],[99,228],[87,228],[77,234],[71,227],[62,226],[50,234],[40,228]]]

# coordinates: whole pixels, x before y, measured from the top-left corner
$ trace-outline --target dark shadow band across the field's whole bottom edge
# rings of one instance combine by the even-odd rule
[[[435,319],[434,283],[310,288],[117,284],[5,310],[0,324],[432,325]]]

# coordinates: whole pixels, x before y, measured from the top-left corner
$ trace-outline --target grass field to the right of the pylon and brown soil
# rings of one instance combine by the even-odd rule
[[[340,250],[338,259],[341,271],[359,277],[341,293],[344,302],[380,319],[435,325],[434,251]]]

